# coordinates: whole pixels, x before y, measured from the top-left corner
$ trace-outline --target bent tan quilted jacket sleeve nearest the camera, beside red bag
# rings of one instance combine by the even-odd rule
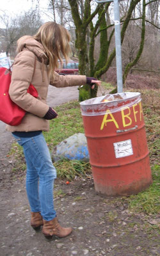
[[[27,90],[31,84],[35,64],[35,54],[20,52],[15,58],[9,95],[15,104],[33,115],[44,117],[49,106],[30,95]]]

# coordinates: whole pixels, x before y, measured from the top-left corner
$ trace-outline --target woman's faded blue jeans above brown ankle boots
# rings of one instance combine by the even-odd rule
[[[53,183],[56,179],[54,168],[43,134],[31,138],[13,135],[23,147],[26,158],[26,191],[31,212],[41,212],[44,220],[56,217],[53,203]]]

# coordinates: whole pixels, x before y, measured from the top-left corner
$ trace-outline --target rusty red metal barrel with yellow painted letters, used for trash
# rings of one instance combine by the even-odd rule
[[[126,196],[148,188],[152,175],[140,93],[105,95],[80,105],[95,190]]]

